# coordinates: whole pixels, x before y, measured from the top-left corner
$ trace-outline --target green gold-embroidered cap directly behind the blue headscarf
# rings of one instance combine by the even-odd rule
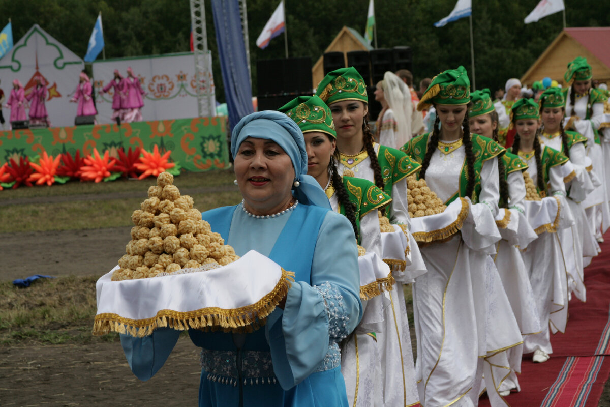
[[[331,109],[318,96],[299,96],[278,109],[295,121],[302,132],[319,131],[337,138]]]

